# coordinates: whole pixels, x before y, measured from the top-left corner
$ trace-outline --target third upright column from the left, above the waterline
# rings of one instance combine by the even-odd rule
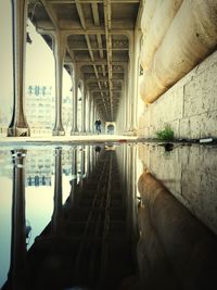
[[[76,64],[71,66],[71,76],[73,83],[73,127],[71,135],[78,134],[77,111],[78,111],[78,73]]]

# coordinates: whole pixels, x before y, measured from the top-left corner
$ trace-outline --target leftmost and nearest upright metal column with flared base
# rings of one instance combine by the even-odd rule
[[[8,136],[29,136],[24,108],[27,0],[12,0],[13,16],[13,115]]]

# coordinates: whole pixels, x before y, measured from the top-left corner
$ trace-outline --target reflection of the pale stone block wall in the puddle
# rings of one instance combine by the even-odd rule
[[[176,147],[176,146],[175,146]],[[217,232],[217,148],[140,146],[140,159],[171,193]]]

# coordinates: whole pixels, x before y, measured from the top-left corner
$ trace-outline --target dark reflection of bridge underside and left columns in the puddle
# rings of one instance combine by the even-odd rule
[[[71,194],[62,205],[62,150],[56,149],[54,209],[50,225],[25,250],[24,168],[15,166],[12,261],[9,280],[3,289],[66,289],[87,286],[91,289],[116,289],[136,272],[136,249],[131,216],[135,212],[126,194],[115,151],[87,152],[87,176],[74,178]],[[86,151],[81,169],[86,171]],[[76,162],[77,150],[73,150]],[[14,161],[23,164],[24,152],[15,152]],[[97,163],[97,167],[95,167]],[[76,167],[74,168],[76,171]],[[82,173],[82,176],[85,176]],[[17,181],[16,181],[17,180]],[[24,180],[23,180],[24,182]],[[131,205],[130,205],[131,204]],[[135,219],[135,218],[133,218]],[[14,248],[15,247],[15,248]],[[13,251],[13,249],[20,251]],[[22,264],[22,268],[18,267]]]

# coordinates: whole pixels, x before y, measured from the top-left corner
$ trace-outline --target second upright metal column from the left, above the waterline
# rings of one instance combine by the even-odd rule
[[[54,136],[65,135],[62,124],[62,89],[63,89],[63,63],[65,58],[65,41],[60,33],[54,35],[54,59],[55,59],[55,125]]]

